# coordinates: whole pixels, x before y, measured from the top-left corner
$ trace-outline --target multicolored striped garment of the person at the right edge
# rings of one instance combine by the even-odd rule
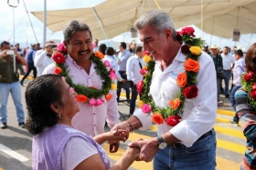
[[[247,150],[242,159],[241,170],[256,170],[256,113],[250,105],[248,94],[240,88],[236,94],[236,112],[240,116],[243,134],[247,138]]]

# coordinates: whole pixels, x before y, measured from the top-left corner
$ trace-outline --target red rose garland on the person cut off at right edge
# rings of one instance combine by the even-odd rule
[[[242,75],[241,85],[243,89],[247,91],[250,100],[250,105],[256,108],[256,82],[253,80],[255,73],[247,71]]]

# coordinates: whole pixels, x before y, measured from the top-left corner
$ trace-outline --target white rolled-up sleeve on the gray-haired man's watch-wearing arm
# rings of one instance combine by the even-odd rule
[[[198,94],[190,103],[190,105],[194,105],[191,114],[169,131],[187,147],[193,145],[201,135],[211,130],[216,122],[217,80],[215,66],[210,60],[205,62],[206,64],[200,67],[197,74]]]

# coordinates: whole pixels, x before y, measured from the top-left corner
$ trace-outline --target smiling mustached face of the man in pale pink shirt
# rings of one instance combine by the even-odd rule
[[[77,31],[69,40],[69,43],[64,41],[64,45],[68,47],[68,52],[71,58],[77,63],[84,63],[90,59],[93,52],[91,43],[91,35],[88,31]]]

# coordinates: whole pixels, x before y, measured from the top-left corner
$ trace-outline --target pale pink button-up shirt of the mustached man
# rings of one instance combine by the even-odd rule
[[[65,65],[69,66],[69,76],[72,78],[74,84],[95,86],[101,89],[101,75],[97,75],[93,63],[91,63],[89,75],[80,65],[77,65],[69,55],[66,58]],[[55,67],[55,63],[48,65],[43,75],[53,74]],[[111,128],[117,125],[119,123],[119,113],[116,101],[116,90],[110,90],[110,94],[112,98],[108,102],[105,100],[105,96],[101,97],[101,99],[104,100],[102,105],[91,106],[88,103],[83,104],[79,102],[80,112],[72,118],[71,124],[73,127],[87,135],[95,136],[104,133],[105,120],[107,120]]]

